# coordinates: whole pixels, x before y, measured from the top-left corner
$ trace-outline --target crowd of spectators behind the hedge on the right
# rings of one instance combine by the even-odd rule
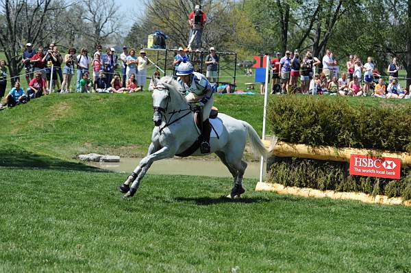
[[[340,73],[336,56],[329,49],[322,61],[311,51],[303,57],[298,50],[286,51],[284,56],[277,52],[271,60],[271,92],[410,99],[411,86],[408,89],[399,86],[397,57],[393,57],[387,68],[388,81],[384,81],[372,57],[363,63],[357,55],[349,55],[345,68]]]

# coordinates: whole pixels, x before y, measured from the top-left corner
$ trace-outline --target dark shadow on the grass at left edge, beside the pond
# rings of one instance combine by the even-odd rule
[[[0,147],[0,167],[7,168],[38,168],[51,170],[82,170],[101,172],[99,168],[64,161],[48,155],[38,155],[15,145]]]

